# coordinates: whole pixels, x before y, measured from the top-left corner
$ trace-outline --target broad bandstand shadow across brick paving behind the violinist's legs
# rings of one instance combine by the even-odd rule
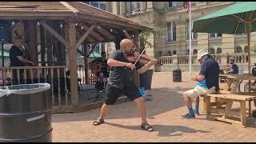
[[[182,87],[162,87],[152,90],[153,101],[146,101],[147,118],[154,119],[155,115],[166,113],[185,106],[182,100],[182,93],[188,90]],[[98,118],[100,109],[90,110],[75,114],[52,114],[52,122],[74,122],[74,121],[93,121]],[[106,119],[117,118],[139,118],[135,102],[125,102],[114,105],[110,108]]]

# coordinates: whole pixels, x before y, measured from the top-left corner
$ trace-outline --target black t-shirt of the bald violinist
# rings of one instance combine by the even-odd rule
[[[114,50],[110,55],[110,58],[120,62],[128,62],[122,50]],[[136,65],[136,70],[140,69],[142,65],[138,62]],[[134,83],[133,71],[126,66],[112,66],[110,67],[110,76],[108,84],[117,88],[124,88],[131,83]]]

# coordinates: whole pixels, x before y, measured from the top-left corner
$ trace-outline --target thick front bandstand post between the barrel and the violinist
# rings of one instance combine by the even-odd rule
[[[73,105],[78,104],[78,67],[77,67],[77,42],[76,42],[75,22],[69,22],[69,59],[70,59],[70,90],[71,102]]]

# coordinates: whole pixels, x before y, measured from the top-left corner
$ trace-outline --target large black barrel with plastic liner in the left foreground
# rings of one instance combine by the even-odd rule
[[[51,142],[49,83],[0,87],[0,142]]]

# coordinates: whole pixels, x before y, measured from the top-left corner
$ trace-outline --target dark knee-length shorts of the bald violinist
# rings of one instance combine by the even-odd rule
[[[138,87],[135,84],[131,84],[129,86],[124,86],[123,89],[110,86],[109,84],[106,86],[107,91],[107,99],[105,104],[106,105],[114,105],[114,102],[122,95],[126,95],[130,100],[134,101],[136,98],[142,97],[140,94]]]

